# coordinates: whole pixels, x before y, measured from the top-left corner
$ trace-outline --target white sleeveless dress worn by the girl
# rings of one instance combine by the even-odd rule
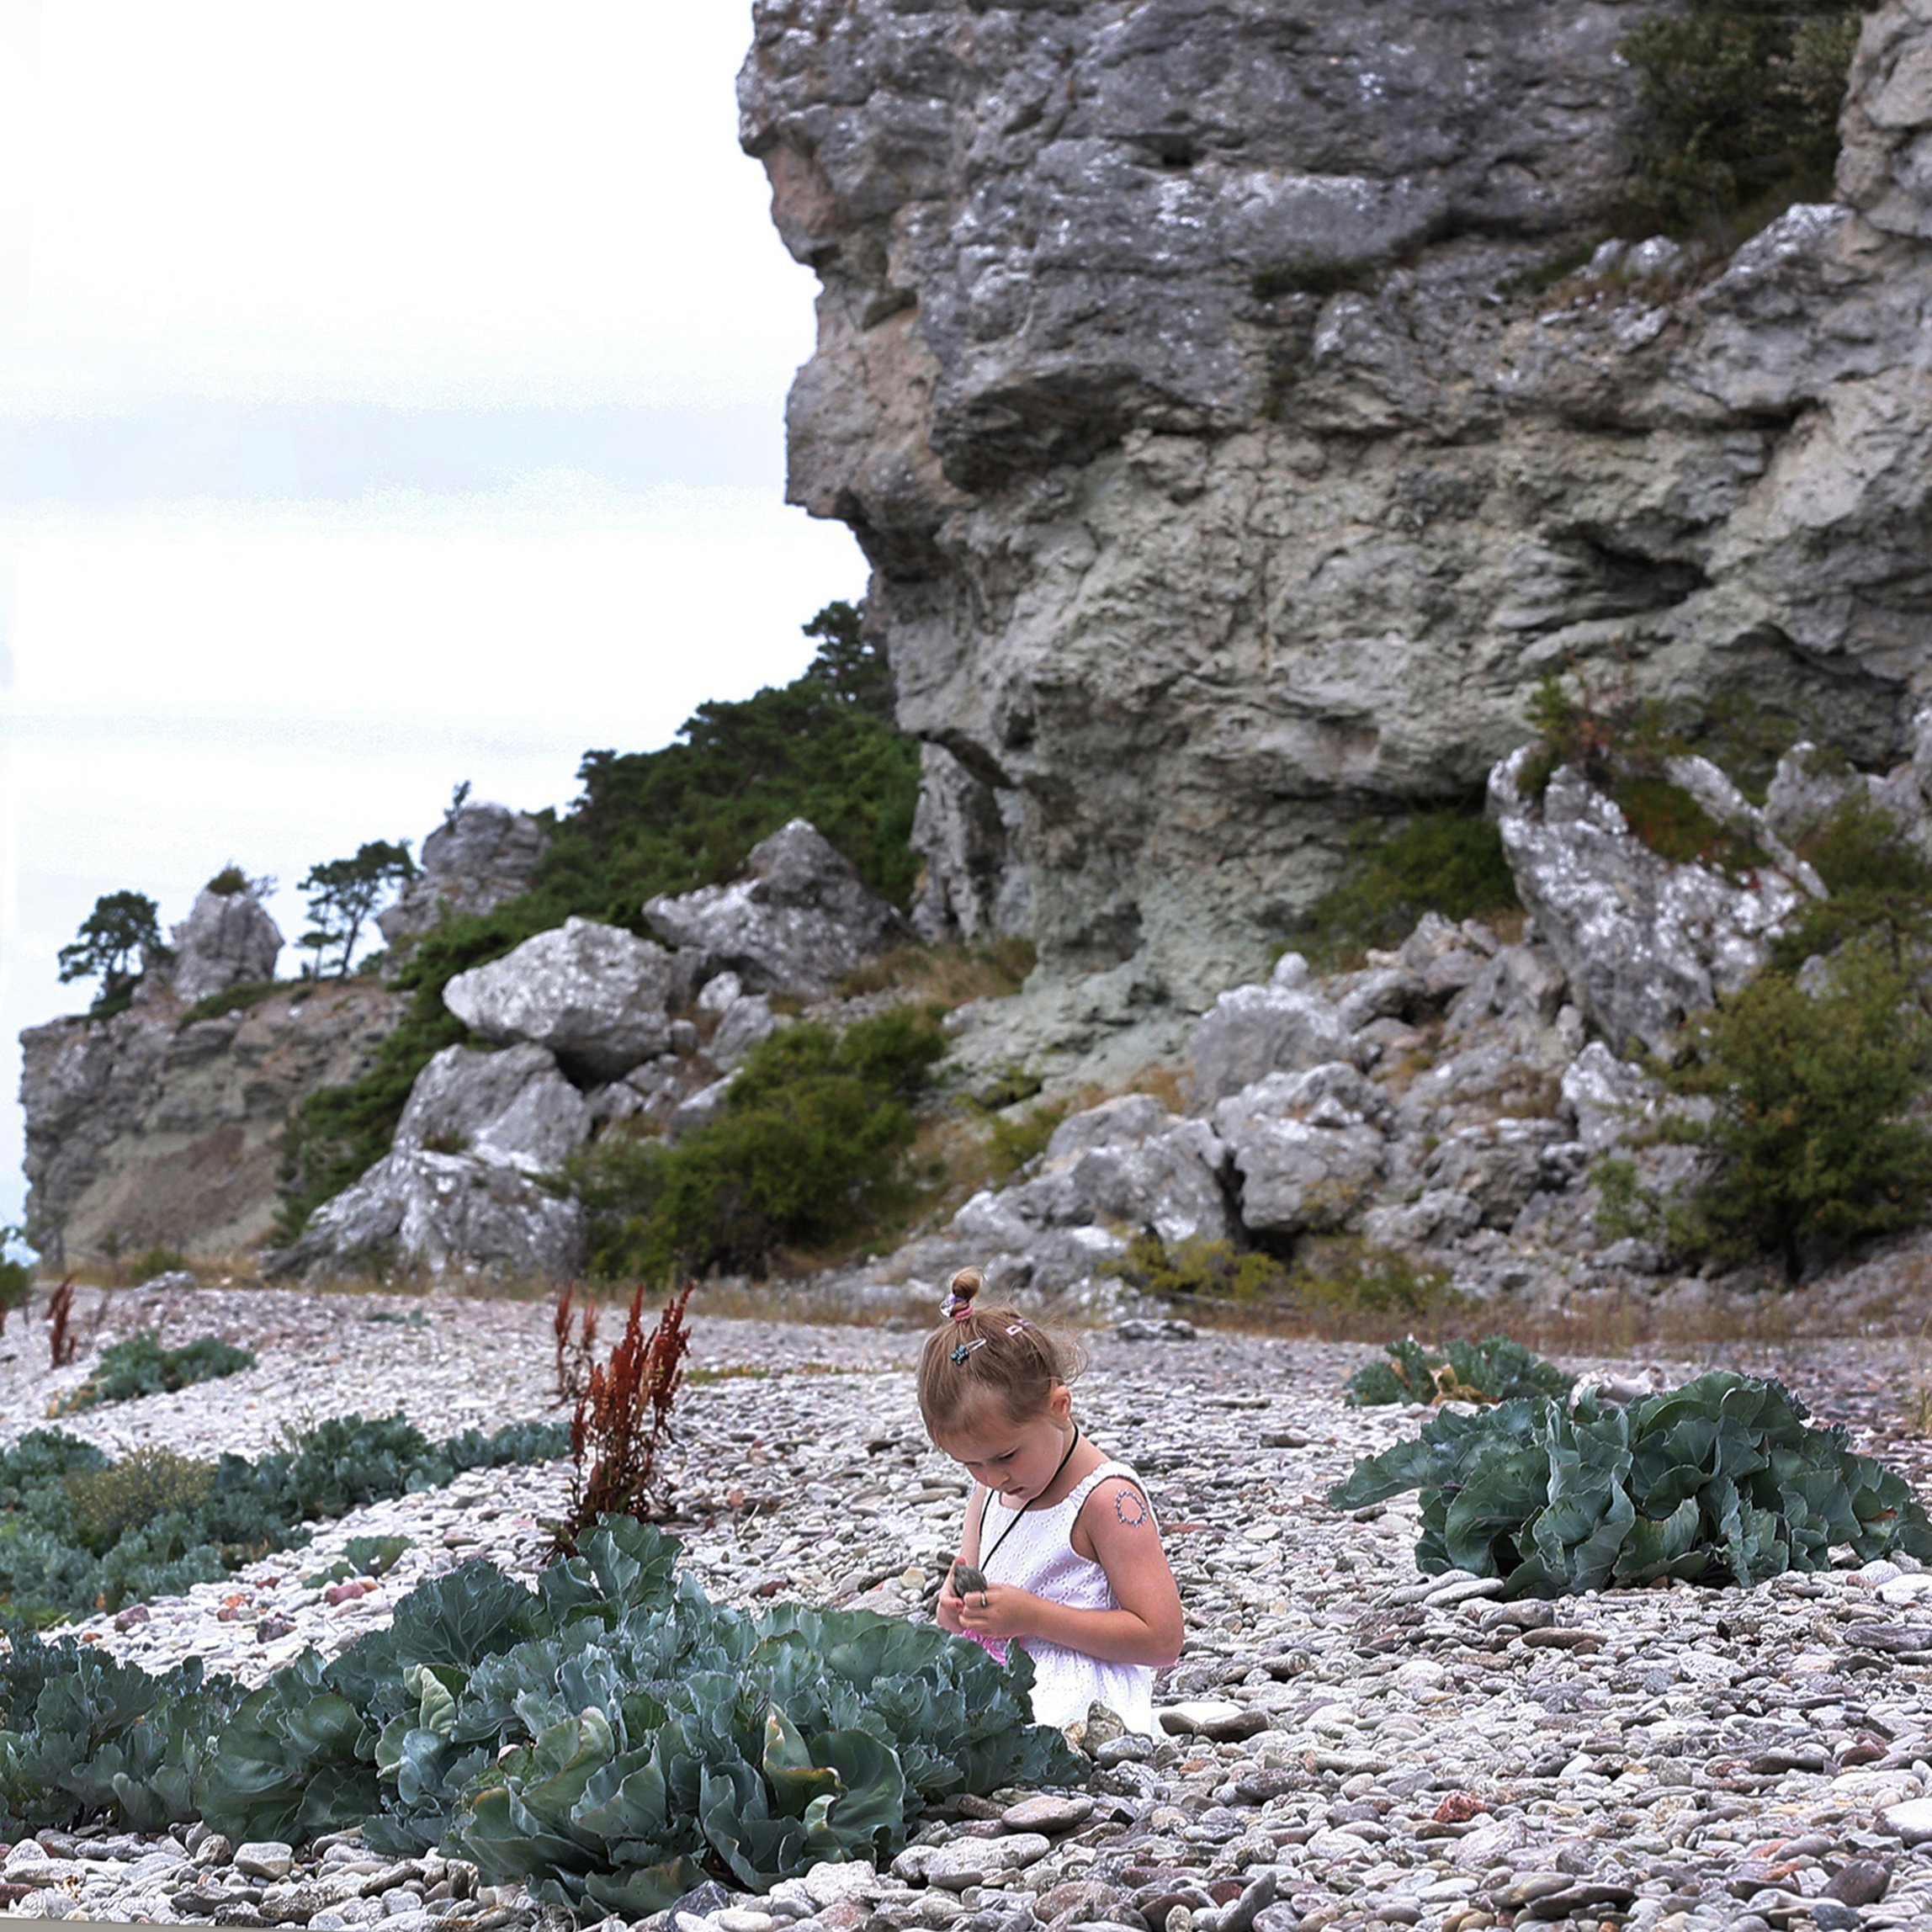
[[[995,1495],[980,1522],[980,1567],[987,1580],[1032,1590],[1034,1596],[1072,1609],[1119,1609],[1121,1600],[1113,1594],[1107,1573],[1072,1546],[1080,1505],[1109,1476],[1126,1476],[1140,1488],[1140,1478],[1124,1463],[1101,1463],[1051,1509],[1012,1511]],[[1151,1517],[1153,1503],[1148,1503],[1148,1513]],[[1014,1515],[1018,1522],[1012,1520]],[[985,1551],[995,1544],[999,1549],[987,1563]],[[987,1648],[993,1650],[991,1644]],[[1130,1731],[1157,1735],[1151,1663],[1107,1663],[1039,1636],[1026,1638],[1022,1648],[1034,1660],[1036,1723],[1074,1723],[1086,1718],[1088,1704],[1105,1704]]]

